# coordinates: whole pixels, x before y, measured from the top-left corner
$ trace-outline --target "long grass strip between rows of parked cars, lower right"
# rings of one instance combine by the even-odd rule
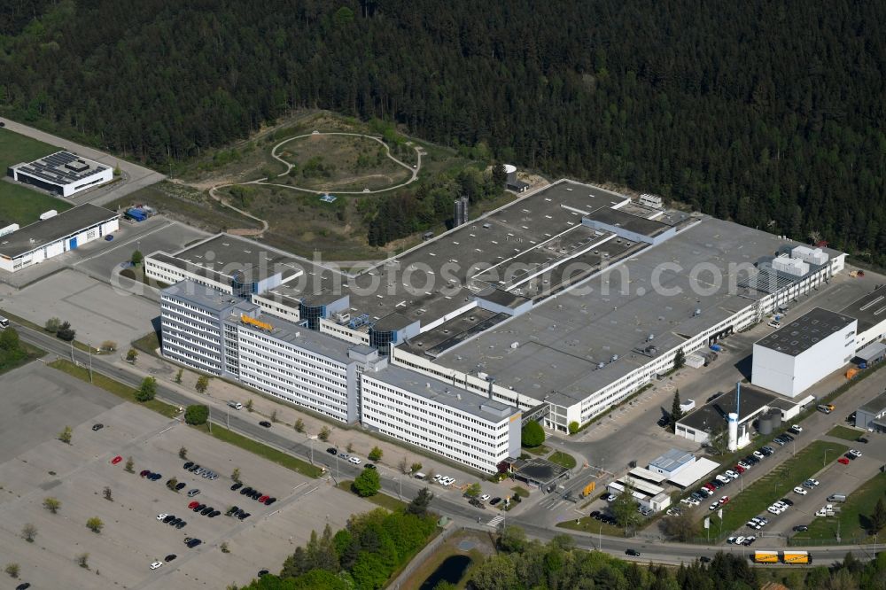
[[[789,453],[789,449],[789,446],[785,446],[781,453]],[[795,485],[800,485],[820,471],[826,455],[828,463],[835,462],[847,450],[848,446],[816,440],[797,453],[796,457],[781,463],[753,485],[745,486],[744,492],[731,498],[723,508],[722,533],[732,532],[751,517],[766,513],[766,508],[773,501],[788,495]],[[765,465],[766,463],[762,463],[755,469],[764,469]],[[741,489],[738,485],[733,485],[733,488]]]

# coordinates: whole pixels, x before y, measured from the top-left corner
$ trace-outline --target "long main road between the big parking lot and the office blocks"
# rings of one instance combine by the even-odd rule
[[[39,330],[31,330],[25,326],[16,325],[16,329],[19,330],[20,337],[26,342],[38,345],[50,353],[55,353],[59,357],[71,357],[70,345],[58,340],[58,338],[53,338],[49,334],[45,334]],[[88,362],[86,353],[77,350],[74,350],[74,359],[83,364]],[[136,368],[124,369],[115,366],[112,362],[107,361],[106,357],[102,356],[92,357],[92,368],[97,372],[113,377],[114,379],[132,387],[138,387],[144,378],[144,375],[140,375]],[[195,402],[206,403],[206,398],[198,397],[196,393],[193,396],[185,395],[182,392],[176,392],[163,384],[158,384],[157,397],[161,400],[182,407]],[[219,401],[218,403],[221,404],[222,402]],[[237,431],[268,446],[284,450],[287,453],[299,456],[299,458],[311,457],[312,450],[307,442],[299,442],[297,440],[289,439],[286,436],[279,434],[278,431],[275,431],[273,428],[263,428],[258,424],[258,420],[260,420],[260,417],[252,418],[249,414],[236,411],[226,412],[226,415],[223,417],[219,415],[217,418],[215,416],[213,418],[214,423],[221,425],[228,423],[229,428],[232,431]],[[296,434],[295,431],[292,431],[292,434]],[[314,460],[315,463],[326,466],[330,477],[351,479],[361,472],[361,468],[359,467],[333,459],[330,454],[325,453],[325,449],[320,445],[318,445],[318,448],[314,449]],[[402,491],[402,498],[412,498],[418,493],[419,489],[425,486],[425,484],[419,483],[415,479],[402,477],[400,474],[392,470],[380,469],[379,472],[382,476],[383,491],[393,497],[400,496],[400,491]],[[688,563],[694,561],[701,555],[712,557],[719,551],[742,555],[747,555],[749,551],[747,547],[683,545],[680,543],[657,542],[638,538],[619,539],[615,537],[586,534],[583,532],[567,532],[563,529],[548,528],[539,524],[533,524],[530,522],[530,519],[526,518],[524,515],[509,517],[507,513],[504,512],[498,512],[495,510],[478,510],[477,508],[471,507],[466,501],[454,500],[450,497],[441,496],[440,494],[436,495],[431,505],[440,514],[452,518],[455,524],[466,528],[489,532],[492,530],[492,527],[486,523],[492,520],[495,516],[503,516],[503,518],[497,519],[499,522],[495,523],[496,525],[503,526],[507,524],[517,524],[532,538],[550,540],[556,535],[569,534],[579,547],[599,549],[602,543],[603,551],[623,558],[627,557],[625,555],[625,550],[627,548],[633,548],[641,552],[639,561],[643,563],[649,561],[655,561],[657,563]],[[766,548],[766,545],[760,542],[759,547],[754,548]],[[859,557],[859,559],[870,559],[872,557],[872,555],[869,555],[868,547],[846,545],[835,547],[812,547],[811,551],[818,563],[842,561],[843,557],[849,551],[853,552]]]

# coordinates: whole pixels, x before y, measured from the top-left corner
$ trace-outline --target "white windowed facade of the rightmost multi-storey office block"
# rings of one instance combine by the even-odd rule
[[[411,445],[421,446],[455,462],[494,472],[514,451],[510,424],[520,414],[494,420],[408,392],[363,373],[361,423]],[[519,438],[517,435],[517,451]],[[519,453],[517,453],[519,455]]]

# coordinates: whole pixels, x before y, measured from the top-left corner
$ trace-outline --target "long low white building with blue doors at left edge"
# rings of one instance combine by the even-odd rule
[[[15,272],[120,229],[117,213],[89,203],[0,237],[0,269]]]

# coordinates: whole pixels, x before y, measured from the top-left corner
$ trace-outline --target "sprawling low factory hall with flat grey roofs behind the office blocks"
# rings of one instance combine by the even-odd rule
[[[708,350],[843,269],[842,252],[807,262],[792,256],[796,248],[559,181],[355,275],[226,234],[153,252],[145,275],[237,296],[262,322],[291,322],[300,338],[368,346],[423,384],[567,431],[672,369],[678,351]],[[781,254],[808,272],[775,268]],[[233,375],[229,363],[222,370]]]

